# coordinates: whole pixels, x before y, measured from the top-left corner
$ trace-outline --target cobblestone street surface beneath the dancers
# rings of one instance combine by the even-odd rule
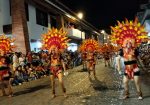
[[[135,86],[130,82],[131,98],[120,100],[122,94],[119,76],[111,68],[100,62],[96,65],[97,80],[89,80],[82,66],[69,71],[64,77],[68,97],[64,98],[56,82],[57,97],[51,98],[49,77],[14,86],[15,96],[0,97],[0,105],[149,105],[150,79],[142,73],[144,99],[138,100]]]

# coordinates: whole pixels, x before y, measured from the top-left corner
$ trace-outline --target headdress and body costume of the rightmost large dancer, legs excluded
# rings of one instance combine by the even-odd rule
[[[144,27],[135,21],[128,21],[120,23],[118,26],[111,27],[112,43],[118,44],[123,48],[125,60],[125,75],[133,79],[134,75],[139,75],[139,68],[136,61],[135,49],[138,45],[147,38],[147,33]],[[131,46],[131,47],[129,47]]]

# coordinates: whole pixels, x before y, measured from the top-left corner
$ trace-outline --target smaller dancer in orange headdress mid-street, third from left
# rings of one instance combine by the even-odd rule
[[[83,43],[80,45],[79,51],[83,54],[86,52],[86,64],[87,64],[87,70],[89,73],[89,78],[91,76],[91,72],[93,72],[93,76],[96,79],[96,73],[95,73],[95,65],[96,65],[96,52],[99,51],[100,45],[99,43],[94,39],[86,39],[83,41]]]

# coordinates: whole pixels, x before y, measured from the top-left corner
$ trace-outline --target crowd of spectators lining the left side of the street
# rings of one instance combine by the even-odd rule
[[[74,67],[77,52],[65,51],[62,54],[66,68]],[[49,76],[50,59],[46,51],[38,53],[28,52],[26,55],[21,52],[7,54],[8,62],[11,65],[12,85],[21,85],[24,82],[40,79]],[[70,64],[70,65],[68,65]]]

